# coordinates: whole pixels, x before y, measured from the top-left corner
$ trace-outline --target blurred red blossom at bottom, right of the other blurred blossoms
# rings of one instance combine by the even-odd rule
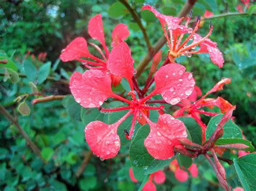
[[[180,182],[185,182],[188,179],[188,172],[180,169],[178,161],[174,159],[169,166],[170,170],[174,173],[175,178]],[[192,177],[197,177],[198,169],[196,164],[192,164],[187,170]]]

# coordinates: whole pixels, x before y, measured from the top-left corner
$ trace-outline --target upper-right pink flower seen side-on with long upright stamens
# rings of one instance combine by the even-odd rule
[[[213,43],[208,39],[212,33],[212,25],[210,27],[210,32],[205,37],[201,37],[196,33],[200,18],[198,18],[196,26],[192,29],[188,28],[188,22],[191,19],[190,17],[188,17],[185,25],[180,25],[183,20],[182,18],[180,19],[178,17],[163,15],[150,5],[144,5],[142,10],[150,10],[159,19],[169,46],[169,59],[171,62],[174,62],[174,59],[180,55],[187,55],[190,57],[192,54],[209,53],[212,62],[220,68],[223,67],[223,54],[217,48],[217,43]],[[167,27],[165,27],[165,25]],[[168,32],[170,33],[170,39]],[[181,43],[185,33],[188,33],[188,37]],[[187,44],[188,41],[192,39],[193,42],[191,44]],[[200,48],[194,51],[197,46]]]

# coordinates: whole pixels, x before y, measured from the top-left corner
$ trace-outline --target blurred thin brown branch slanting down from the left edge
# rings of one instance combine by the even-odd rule
[[[31,148],[31,150],[38,155],[38,157],[44,162],[44,164],[46,164],[46,161],[43,159],[42,155],[41,155],[41,151],[39,150],[39,148],[35,145],[35,143],[32,142],[32,140],[29,138],[28,134],[26,134],[26,132],[22,129],[22,127],[17,123],[16,119],[14,117],[11,116],[11,114],[2,106],[0,105],[0,112],[1,114],[3,114],[6,118],[9,119],[9,121],[11,123],[13,123],[19,130],[19,132],[21,133],[21,135],[24,137],[24,139],[26,140],[26,143],[29,145],[29,147]]]

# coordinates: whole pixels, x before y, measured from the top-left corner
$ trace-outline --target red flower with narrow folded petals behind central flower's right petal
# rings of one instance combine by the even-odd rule
[[[198,101],[191,103],[190,100],[186,99],[183,100],[182,103],[179,103],[179,106],[181,107],[179,110],[173,113],[174,117],[180,117],[180,116],[190,116],[196,119],[198,124],[202,128],[202,133],[203,133],[203,142],[205,138],[205,130],[206,130],[206,125],[201,121],[200,119],[200,114],[204,114],[207,116],[215,116],[218,115],[218,112],[207,112],[204,111],[200,108],[202,107],[208,107],[208,108],[213,108],[214,106],[218,107],[220,109],[221,113],[225,113],[228,110],[233,108],[233,105],[229,103],[228,101],[224,100],[222,97],[217,97],[216,99],[214,98],[205,98],[207,95],[214,93],[215,91],[219,91],[223,89],[224,84],[230,83],[231,79],[224,78],[223,80],[219,81],[215,86],[208,91],[204,96],[202,96]],[[194,91],[198,91],[198,88],[194,89]],[[200,91],[199,91],[200,92]],[[195,95],[196,93],[192,93],[191,95]],[[188,97],[190,98],[190,97]],[[191,97],[194,100],[194,97]],[[185,114],[186,112],[186,114]]]

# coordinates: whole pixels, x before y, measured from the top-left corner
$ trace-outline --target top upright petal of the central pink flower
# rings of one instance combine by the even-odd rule
[[[131,50],[129,46],[123,42],[113,47],[109,60],[107,61],[107,68],[113,75],[126,77],[127,80],[133,76],[133,62]]]

